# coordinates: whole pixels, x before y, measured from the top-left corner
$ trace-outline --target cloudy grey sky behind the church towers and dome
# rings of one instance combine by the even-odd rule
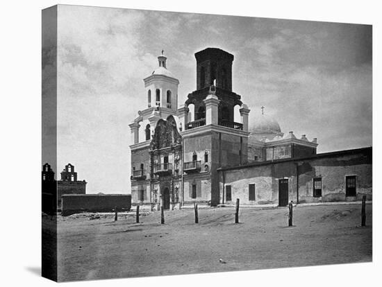
[[[147,106],[142,79],[164,50],[184,103],[194,53],[207,47],[234,55],[250,127],[264,105],[283,132],[317,137],[317,153],[372,146],[372,26],[58,6],[58,173],[70,162],[87,193],[130,193],[128,123]]]

